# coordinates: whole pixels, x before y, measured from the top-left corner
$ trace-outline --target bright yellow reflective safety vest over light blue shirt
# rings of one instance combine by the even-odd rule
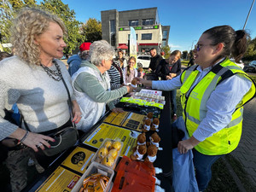
[[[225,59],[222,63],[212,67],[212,70],[188,92],[199,73],[198,70],[195,70],[196,67],[198,67],[198,65],[185,69],[181,75],[183,85],[180,91],[183,106],[183,119],[185,120],[189,137],[193,135],[198,125],[201,124],[202,119],[206,117],[207,101],[212,91],[215,90],[220,82],[236,73],[250,79],[247,73],[244,73],[240,67],[237,67],[236,64],[229,59]],[[250,80],[253,82],[252,79]],[[241,138],[242,106],[253,99],[253,96],[255,96],[254,82],[251,89],[243,96],[241,102],[237,104],[236,111],[232,114],[230,124],[221,131],[214,133],[212,137],[207,137],[206,140],[196,145],[195,149],[201,154],[207,155],[228,154],[234,150]]]

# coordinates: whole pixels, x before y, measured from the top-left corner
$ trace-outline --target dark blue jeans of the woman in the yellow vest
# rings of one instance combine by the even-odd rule
[[[207,189],[208,183],[212,178],[212,164],[222,155],[205,155],[193,148],[195,177],[200,191]]]

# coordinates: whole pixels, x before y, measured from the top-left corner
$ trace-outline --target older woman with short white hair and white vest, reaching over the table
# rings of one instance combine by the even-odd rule
[[[122,112],[115,108],[113,100],[131,92],[134,88],[123,86],[110,90],[110,78],[107,70],[113,63],[114,49],[107,41],[96,41],[90,45],[90,59],[82,61],[79,71],[73,74],[74,96],[82,111],[78,129],[90,131],[98,119],[106,112],[106,103],[113,112]]]

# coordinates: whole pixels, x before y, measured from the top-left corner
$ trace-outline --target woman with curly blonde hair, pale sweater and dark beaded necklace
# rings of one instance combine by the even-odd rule
[[[66,27],[55,15],[40,9],[21,9],[13,23],[12,44],[15,55],[0,63],[0,140],[14,138],[24,148],[12,148],[6,160],[12,191],[26,187],[26,165],[32,153],[50,148],[50,133],[61,131],[81,119],[73,99],[71,79],[61,58],[67,46],[63,40]],[[67,104],[67,84],[73,103],[73,119]],[[3,119],[4,108],[17,103],[23,123],[14,125]],[[19,145],[20,146],[20,145]],[[38,153],[36,153],[37,155]],[[53,158],[38,159],[47,167]]]

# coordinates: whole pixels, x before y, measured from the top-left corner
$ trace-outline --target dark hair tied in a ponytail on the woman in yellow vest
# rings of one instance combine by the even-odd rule
[[[235,30],[231,26],[214,26],[203,32],[212,40],[212,45],[224,44],[224,51],[219,57],[233,56],[236,62],[247,50],[247,32],[244,30]]]

